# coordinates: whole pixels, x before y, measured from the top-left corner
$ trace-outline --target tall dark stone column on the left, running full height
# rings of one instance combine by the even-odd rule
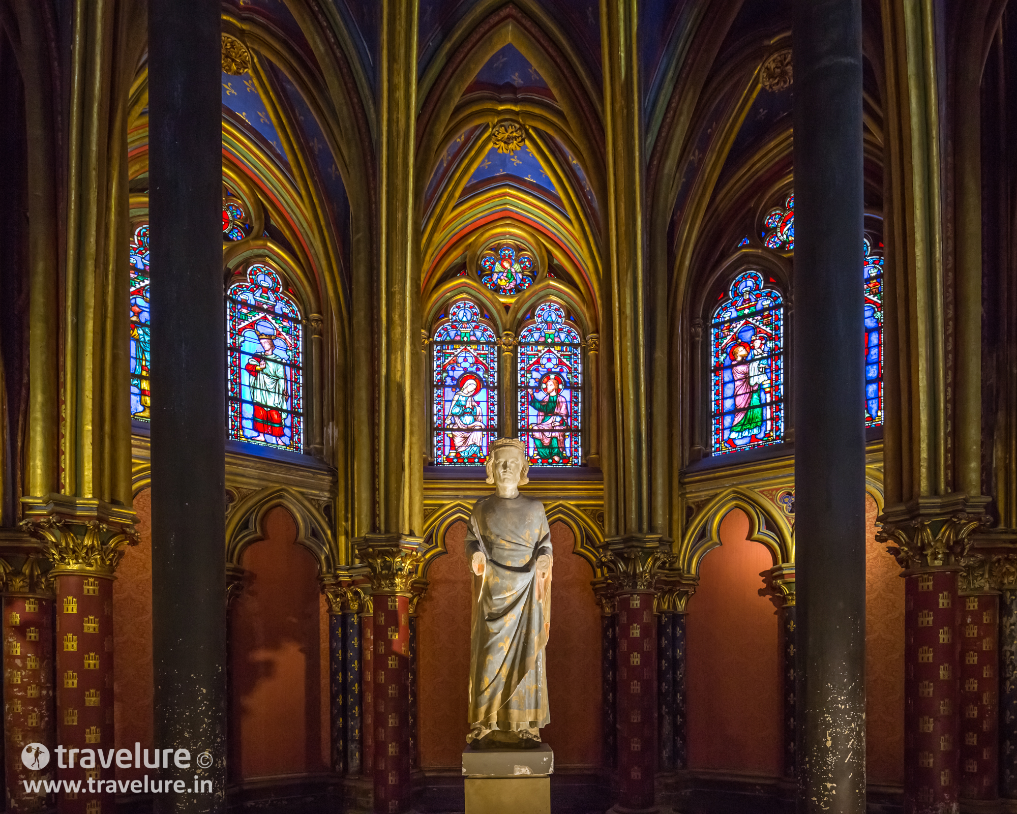
[[[189,750],[213,788],[157,812],[226,809],[221,13],[148,2],[155,745]]]

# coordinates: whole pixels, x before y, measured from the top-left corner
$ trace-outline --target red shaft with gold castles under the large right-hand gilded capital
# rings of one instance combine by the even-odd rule
[[[905,584],[904,801],[907,814],[956,810],[957,571],[911,573]]]

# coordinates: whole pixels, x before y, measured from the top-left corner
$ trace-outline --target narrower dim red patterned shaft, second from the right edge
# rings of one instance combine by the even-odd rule
[[[960,597],[960,796],[999,797],[999,604],[996,593]]]

